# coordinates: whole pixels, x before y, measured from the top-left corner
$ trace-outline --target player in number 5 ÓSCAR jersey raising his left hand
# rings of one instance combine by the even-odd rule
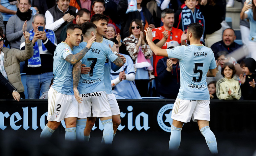
[[[146,39],[152,51],[159,56],[177,58],[180,61],[181,87],[174,103],[171,118],[169,150],[178,150],[184,122],[197,121],[211,153],[218,153],[215,135],[210,130],[209,91],[206,76],[216,75],[216,62],[210,48],[200,44],[203,27],[192,23],[187,29],[189,46],[161,49],[152,41],[152,30],[147,28]],[[192,93],[192,94],[191,94]]]

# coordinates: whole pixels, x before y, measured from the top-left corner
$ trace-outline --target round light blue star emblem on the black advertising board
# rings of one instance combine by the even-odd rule
[[[171,104],[166,104],[162,108],[160,108],[160,110],[157,114],[157,123],[166,132],[171,132],[172,108],[173,108],[172,103]]]

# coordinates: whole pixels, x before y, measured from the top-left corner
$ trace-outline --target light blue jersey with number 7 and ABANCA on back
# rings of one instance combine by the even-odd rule
[[[82,42],[79,46],[73,48],[73,53],[79,53],[87,45]],[[111,51],[109,46],[101,43],[93,42],[91,48],[81,60],[82,64],[91,67],[89,74],[81,74],[77,90],[80,94],[105,91],[103,80],[104,65],[106,59],[111,62],[117,59],[117,56]]]

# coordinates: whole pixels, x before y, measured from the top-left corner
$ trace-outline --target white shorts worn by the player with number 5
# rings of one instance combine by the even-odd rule
[[[181,122],[197,120],[210,121],[210,100],[182,100],[176,99],[173,105],[171,118]]]

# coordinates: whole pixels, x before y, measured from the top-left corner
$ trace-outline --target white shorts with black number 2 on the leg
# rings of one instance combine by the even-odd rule
[[[57,92],[52,87],[48,91],[48,121],[60,122],[65,118],[76,117],[78,102],[74,95],[66,95]]]

